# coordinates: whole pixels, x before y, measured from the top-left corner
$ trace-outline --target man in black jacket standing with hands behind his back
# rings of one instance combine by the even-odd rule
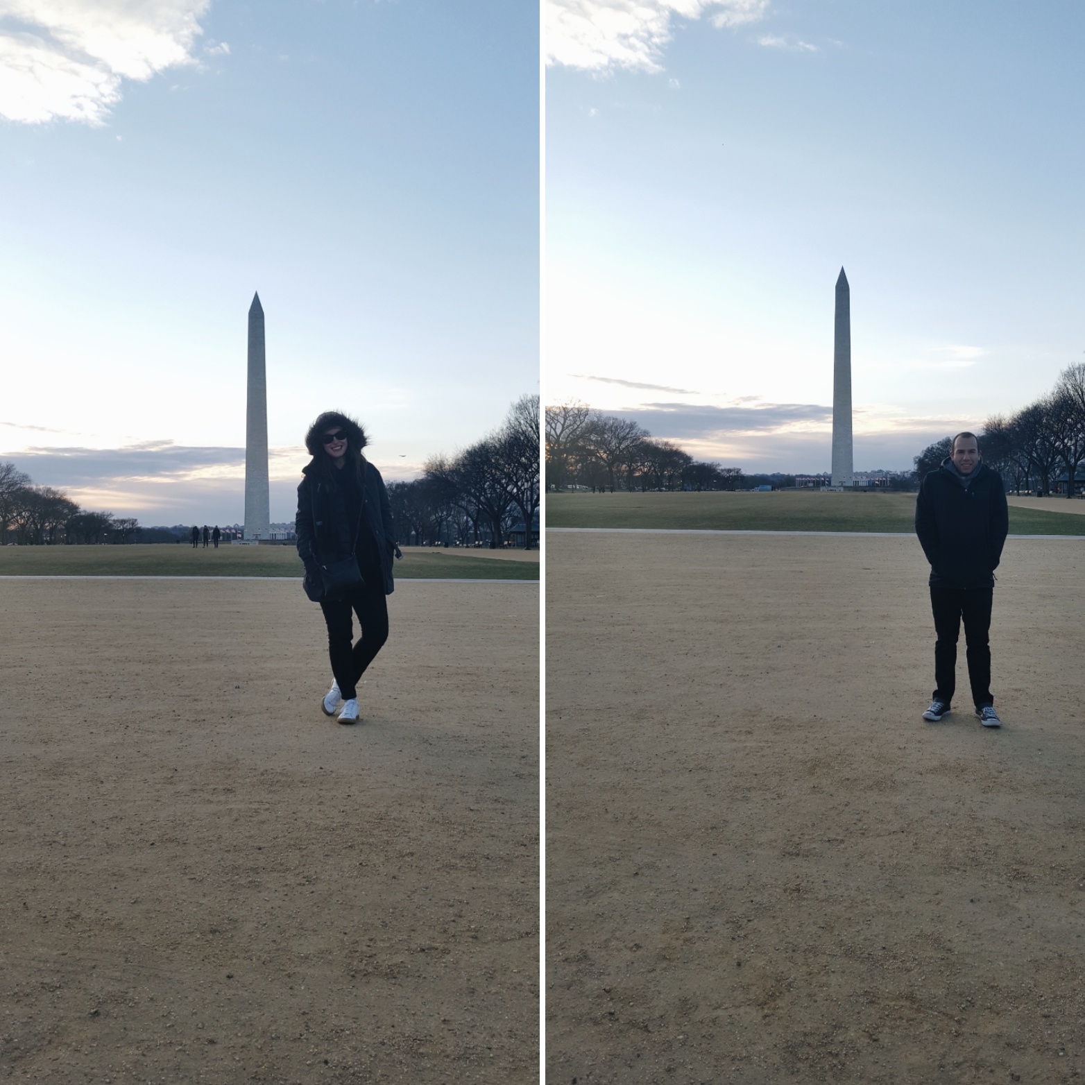
[[[931,471],[916,500],[916,534],[931,563],[934,612],[934,682],[923,719],[937,722],[956,688],[961,620],[968,644],[968,678],[975,714],[984,727],[1001,726],[991,695],[991,603],[994,571],[1009,531],[1001,475],[980,461],[974,433],[958,433],[950,455]]]

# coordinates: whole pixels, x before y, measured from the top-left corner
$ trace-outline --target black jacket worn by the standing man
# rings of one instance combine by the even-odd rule
[[[946,460],[931,471],[916,500],[916,534],[931,563],[931,587],[979,588],[994,583],[1009,531],[1006,490],[982,462],[966,489]]]

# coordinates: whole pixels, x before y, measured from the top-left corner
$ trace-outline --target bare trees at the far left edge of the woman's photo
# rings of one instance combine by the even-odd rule
[[[63,490],[35,486],[14,463],[0,463],[0,546],[127,542],[138,532],[135,518],[80,509]]]

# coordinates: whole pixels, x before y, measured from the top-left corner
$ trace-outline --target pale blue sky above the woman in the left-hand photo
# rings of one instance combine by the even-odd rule
[[[0,112],[5,93],[8,117],[30,112],[31,87],[61,116],[0,119],[0,458],[145,523],[240,520],[256,290],[272,520],[293,518],[321,410],[359,416],[374,462],[403,476],[537,391],[532,4],[23,8],[0,37],[52,53],[15,90],[9,61]],[[186,39],[184,18],[202,34]],[[146,54],[192,63],[118,80],[139,74],[132,20]],[[102,24],[116,55],[88,59]],[[91,89],[67,101],[61,77]],[[94,79],[119,100],[95,101]],[[86,101],[97,126],[64,117]]]

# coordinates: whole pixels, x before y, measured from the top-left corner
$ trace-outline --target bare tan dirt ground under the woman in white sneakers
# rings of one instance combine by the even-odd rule
[[[0,1080],[538,1077],[538,588],[0,582]]]

